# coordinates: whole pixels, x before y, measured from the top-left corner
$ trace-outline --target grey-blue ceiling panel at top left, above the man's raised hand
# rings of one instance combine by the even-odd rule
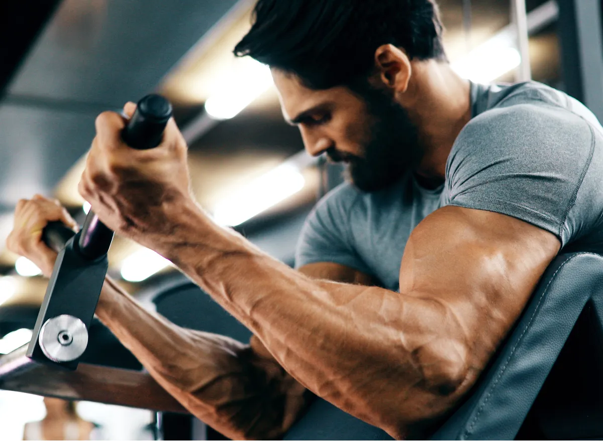
[[[9,93],[122,105],[157,86],[235,0],[65,0]]]

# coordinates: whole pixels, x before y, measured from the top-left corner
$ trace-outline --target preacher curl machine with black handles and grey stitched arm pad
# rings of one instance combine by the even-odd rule
[[[145,96],[123,139],[153,148],[169,117],[168,101]],[[95,363],[86,355],[94,351],[93,315],[112,239],[92,211],[77,234],[59,222],[48,225],[43,240],[58,252],[57,262],[31,342],[0,357],[0,389],[186,415],[131,354],[130,363]],[[241,341],[251,335],[184,277],[156,291],[157,311],[175,324]],[[603,257],[560,254],[478,383],[435,424],[431,439],[603,437],[602,367]],[[318,398],[285,439],[391,438]]]

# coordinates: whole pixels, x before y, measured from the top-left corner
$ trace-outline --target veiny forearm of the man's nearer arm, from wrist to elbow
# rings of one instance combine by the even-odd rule
[[[447,311],[378,287],[311,280],[191,210],[170,258],[312,392],[394,436],[446,410],[464,382]],[[165,248],[161,248],[164,246]],[[447,360],[436,360],[444,349]],[[425,366],[444,364],[450,375]],[[446,399],[443,399],[446,396]]]

